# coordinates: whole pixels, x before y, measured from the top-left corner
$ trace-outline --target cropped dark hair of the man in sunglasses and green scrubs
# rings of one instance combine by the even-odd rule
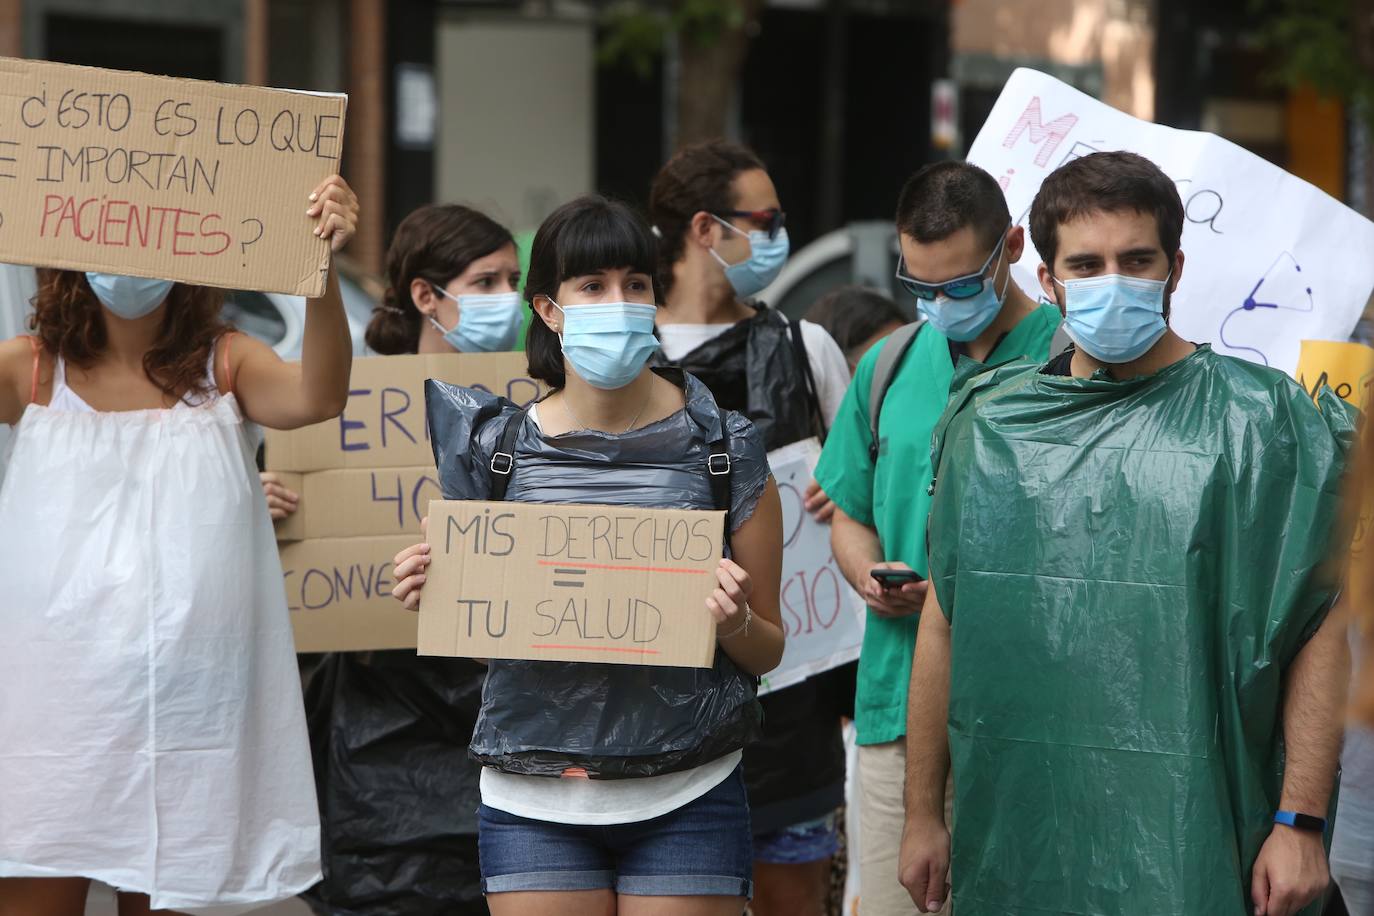
[[[1010,225],[1002,187],[971,162],[927,165],[897,195],[897,232],[921,243],[943,242],[970,227],[991,251]]]

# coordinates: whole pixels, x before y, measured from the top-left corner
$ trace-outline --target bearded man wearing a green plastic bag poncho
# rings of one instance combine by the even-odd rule
[[[947,878],[955,916],[1287,916],[1326,887],[1353,419],[1168,330],[1182,227],[1142,157],[1050,174],[1030,233],[1076,347],[971,378],[936,427],[901,849],[922,912]]]

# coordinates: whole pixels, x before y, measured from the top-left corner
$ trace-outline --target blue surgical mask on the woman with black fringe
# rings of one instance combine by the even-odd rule
[[[563,313],[563,332],[558,335],[563,356],[592,387],[625,387],[639,378],[644,363],[658,350],[654,336],[658,309],[653,305],[592,302],[565,309],[554,302],[554,308]]]

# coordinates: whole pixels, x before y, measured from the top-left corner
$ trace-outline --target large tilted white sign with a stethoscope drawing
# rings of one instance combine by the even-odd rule
[[[1187,216],[1171,319],[1179,335],[1289,374],[1300,341],[1349,338],[1374,290],[1374,222],[1230,140],[1132,118],[1020,69],[969,161],[1002,184],[1013,218],[1028,227],[1015,275],[1032,298],[1044,298],[1029,232],[1040,183],[1107,150],[1139,152],[1179,187]]]

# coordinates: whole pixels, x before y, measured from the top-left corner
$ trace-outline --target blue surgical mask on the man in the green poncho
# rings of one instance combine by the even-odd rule
[[[1164,320],[1164,291],[1169,277],[1147,280],[1107,273],[1062,283],[1055,277],[1054,282],[1063,287],[1065,330],[1099,363],[1138,360],[1169,330]]]

